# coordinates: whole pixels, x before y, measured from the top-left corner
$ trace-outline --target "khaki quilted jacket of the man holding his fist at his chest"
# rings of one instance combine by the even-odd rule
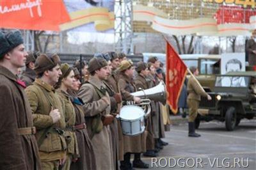
[[[36,79],[33,85],[28,86],[25,91],[28,95],[33,122],[36,127],[37,140],[40,139],[45,130],[49,127],[65,128],[66,123],[63,114],[63,103],[50,84],[42,81],[42,79]],[[51,109],[59,109],[61,113],[61,119],[54,124],[52,123],[51,116],[49,116]],[[60,160],[66,157],[67,144],[65,137],[52,129],[53,128],[51,128],[39,147],[42,162]]]

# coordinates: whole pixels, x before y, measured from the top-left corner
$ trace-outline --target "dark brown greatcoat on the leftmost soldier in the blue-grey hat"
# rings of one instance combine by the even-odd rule
[[[0,169],[40,169],[34,135],[19,135],[18,128],[33,127],[29,102],[17,77],[0,66]]]

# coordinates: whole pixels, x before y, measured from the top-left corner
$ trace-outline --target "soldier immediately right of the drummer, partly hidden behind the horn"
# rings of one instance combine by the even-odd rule
[[[150,73],[148,70],[147,63],[140,61],[137,63],[136,71],[138,72],[138,76],[134,80],[137,89],[149,89],[152,88],[152,82],[148,78],[148,74]],[[152,106],[151,106],[152,107]],[[154,143],[154,132],[152,125],[152,114],[147,118],[147,151],[143,153],[146,157],[157,157],[157,153],[155,152],[155,143]]]

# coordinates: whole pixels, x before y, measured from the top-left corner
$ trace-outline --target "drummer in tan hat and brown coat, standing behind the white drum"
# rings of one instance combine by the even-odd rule
[[[134,66],[131,61],[122,61],[118,67],[120,79],[118,85],[124,102],[134,101],[136,104],[141,102],[141,99],[131,95],[136,91],[136,86],[132,80]],[[136,136],[123,135],[124,138],[124,160],[120,161],[120,169],[132,169],[132,167],[148,168],[149,165],[141,160],[141,153],[146,151],[147,132]],[[134,153],[134,160],[131,164],[131,153]]]

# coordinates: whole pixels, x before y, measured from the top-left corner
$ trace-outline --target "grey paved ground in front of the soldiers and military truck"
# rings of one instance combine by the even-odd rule
[[[143,160],[150,169],[256,169],[256,120],[242,120],[232,132],[225,123],[205,122],[197,132],[202,137],[188,137],[187,123],[173,125],[159,157]]]

